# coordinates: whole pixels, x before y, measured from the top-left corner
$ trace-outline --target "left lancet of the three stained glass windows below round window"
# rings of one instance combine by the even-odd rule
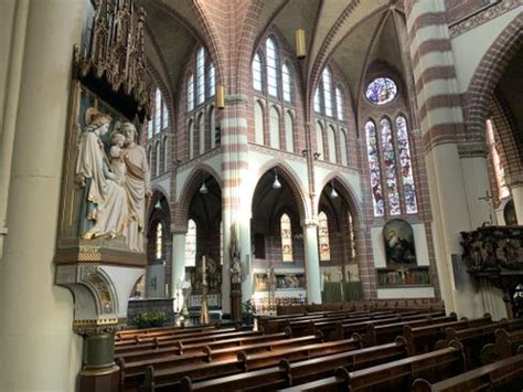
[[[385,205],[382,193],[382,174],[380,170],[380,156],[377,150],[376,126],[373,121],[365,124],[366,151],[369,160],[369,171],[371,173],[372,202],[374,206],[374,215],[383,216]]]

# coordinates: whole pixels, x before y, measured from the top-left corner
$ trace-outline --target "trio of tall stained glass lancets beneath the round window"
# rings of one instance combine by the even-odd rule
[[[406,118],[397,116],[391,123],[384,117],[380,120],[378,131],[370,120],[365,124],[365,135],[374,215],[417,213]]]

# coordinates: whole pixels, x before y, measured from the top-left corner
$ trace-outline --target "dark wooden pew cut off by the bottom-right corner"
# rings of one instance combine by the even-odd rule
[[[415,392],[521,391],[523,390],[523,353],[502,359],[452,378],[430,383],[417,379]]]

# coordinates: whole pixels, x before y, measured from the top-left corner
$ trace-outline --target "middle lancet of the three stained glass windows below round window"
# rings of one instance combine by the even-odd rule
[[[396,158],[394,152],[393,136],[391,121],[383,118],[380,121],[380,130],[382,134],[382,153],[385,171],[385,183],[387,189],[388,208],[391,215],[399,215],[402,209],[399,206],[399,192],[397,190],[396,176]]]

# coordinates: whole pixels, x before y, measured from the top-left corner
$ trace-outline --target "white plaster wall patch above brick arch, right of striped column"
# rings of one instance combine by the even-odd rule
[[[460,93],[467,92],[484,53],[522,9],[523,7],[515,8],[451,40]]]

